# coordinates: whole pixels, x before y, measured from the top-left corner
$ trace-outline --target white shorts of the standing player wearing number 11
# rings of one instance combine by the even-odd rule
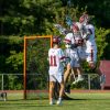
[[[59,84],[64,81],[64,76],[63,75],[50,75],[50,81],[58,81]]]

